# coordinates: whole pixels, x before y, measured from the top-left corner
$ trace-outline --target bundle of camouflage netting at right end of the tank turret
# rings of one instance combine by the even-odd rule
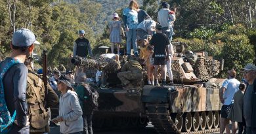
[[[219,74],[221,63],[214,59],[198,58],[194,65],[194,73],[198,79],[206,81]]]

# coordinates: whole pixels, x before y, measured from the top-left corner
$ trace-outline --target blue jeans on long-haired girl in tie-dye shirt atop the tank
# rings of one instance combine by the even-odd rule
[[[129,29],[129,31],[126,31],[126,37],[126,54],[131,55],[131,44],[133,44],[134,54],[138,54],[136,29]]]

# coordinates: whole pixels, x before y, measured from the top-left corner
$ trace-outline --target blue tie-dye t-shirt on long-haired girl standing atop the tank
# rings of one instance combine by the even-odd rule
[[[126,16],[126,22],[129,29],[137,28],[139,23],[138,23],[138,12],[136,10],[125,8],[123,9],[123,16]]]

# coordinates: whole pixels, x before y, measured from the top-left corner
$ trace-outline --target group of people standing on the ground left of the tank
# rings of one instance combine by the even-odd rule
[[[96,90],[89,86],[84,73],[74,78],[73,72],[66,71],[64,65],[53,69],[52,77],[45,83],[43,70],[33,71],[30,55],[35,39],[29,29],[15,31],[10,45],[11,56],[0,63],[0,132],[48,133],[50,109],[59,104],[58,116],[51,122],[60,124],[60,133],[92,134],[93,110],[97,105],[91,105],[91,95],[98,95]],[[72,86],[74,83],[77,86]]]

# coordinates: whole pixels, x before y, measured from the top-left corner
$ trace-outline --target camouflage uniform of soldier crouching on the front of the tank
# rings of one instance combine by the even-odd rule
[[[138,86],[142,81],[142,67],[138,61],[129,60],[121,68],[121,72],[117,73],[117,77],[121,80],[123,86],[132,84]]]

